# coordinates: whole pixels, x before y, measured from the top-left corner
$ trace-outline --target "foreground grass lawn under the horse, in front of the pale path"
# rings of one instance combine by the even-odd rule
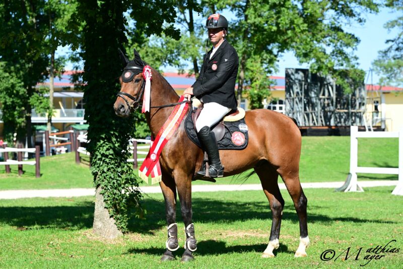
[[[198,249],[195,260],[160,263],[166,228],[162,194],[145,199],[147,219],[130,220],[123,238],[104,240],[92,234],[94,197],[0,200],[1,268],[360,268],[369,248],[384,246],[397,253],[369,261],[366,268],[402,268],[403,203],[393,187],[364,193],[306,189],[308,257],[294,258],[299,243],[298,220],[291,198],[286,206],[276,258],[260,258],[268,243],[271,212],[262,191],[193,193],[193,221]],[[179,242],[183,223],[177,211]],[[352,257],[345,260],[350,248]],[[358,250],[361,252],[358,254]],[[323,261],[334,250],[337,260]],[[356,256],[358,254],[358,259]],[[372,254],[371,254],[372,255]],[[342,259],[343,258],[343,259]]]

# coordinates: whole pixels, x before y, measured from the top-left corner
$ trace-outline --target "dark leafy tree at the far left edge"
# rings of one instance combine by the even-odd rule
[[[5,135],[17,133],[19,143],[25,144],[28,137],[28,147],[32,147],[31,110],[46,107],[46,101],[41,98],[43,89],[37,88],[38,82],[43,82],[47,76],[48,56],[44,53],[44,36],[46,20],[44,18],[44,1],[0,2],[0,56],[4,64],[3,72],[15,70],[14,81],[23,85],[25,94],[19,91],[9,91],[9,98],[20,99],[22,111],[6,119],[4,114]],[[3,83],[2,83],[3,84]],[[4,95],[4,94],[3,94]],[[1,100],[3,102],[3,100]],[[14,127],[18,127],[12,130]]]

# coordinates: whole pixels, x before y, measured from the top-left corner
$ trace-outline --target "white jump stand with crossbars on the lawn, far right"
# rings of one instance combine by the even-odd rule
[[[358,184],[357,173],[398,175],[398,182],[392,194],[403,195],[403,128],[399,132],[358,132],[357,126],[351,126],[350,131],[350,175],[346,183],[347,191],[364,191]],[[398,138],[398,168],[359,167],[358,138]]]

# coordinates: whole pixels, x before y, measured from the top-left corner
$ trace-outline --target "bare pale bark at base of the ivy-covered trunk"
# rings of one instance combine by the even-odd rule
[[[108,209],[105,208],[104,197],[101,194],[101,187],[99,186],[95,193],[93,231],[96,235],[108,239],[114,239],[123,235],[123,233],[117,228],[115,220],[109,216]]]

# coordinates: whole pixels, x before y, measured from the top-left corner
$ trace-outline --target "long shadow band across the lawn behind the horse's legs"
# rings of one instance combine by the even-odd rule
[[[265,202],[231,202],[214,199],[195,198],[193,203],[193,220],[201,223],[230,223],[247,220],[267,221],[271,224],[272,213]],[[144,203],[148,210],[145,220],[131,218],[129,231],[143,234],[154,234],[156,230],[165,227],[165,205],[163,201],[147,199]],[[177,206],[179,207],[179,206]],[[309,206],[308,222],[333,223],[393,223],[374,219],[354,217],[332,217],[318,212],[324,208]],[[328,210],[328,209],[326,209]],[[17,227],[35,227],[35,229],[71,229],[80,230],[92,227],[94,218],[94,203],[83,202],[74,206],[45,206],[45,207],[0,207],[0,223]],[[177,208],[176,220],[181,223],[180,208]],[[286,205],[283,220],[298,225],[298,218],[293,205]]]

